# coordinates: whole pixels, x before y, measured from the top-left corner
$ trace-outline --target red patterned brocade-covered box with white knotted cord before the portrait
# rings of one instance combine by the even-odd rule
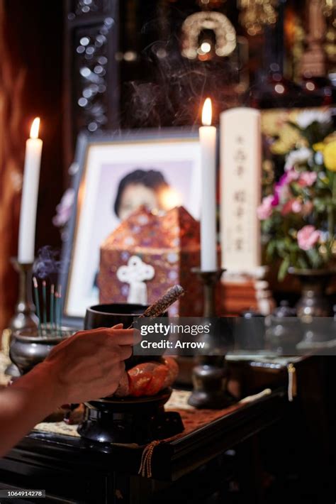
[[[140,270],[139,263],[142,265]],[[186,295],[174,303],[169,314],[201,316],[202,287],[196,275],[191,273],[191,268],[199,264],[198,221],[184,207],[176,207],[163,215],[142,207],[123,221],[101,245],[100,302],[136,302],[134,296],[138,292],[142,304],[146,301],[151,304],[168,287],[179,283],[185,288]],[[132,265],[143,273],[143,282],[134,283],[133,277],[128,275]]]

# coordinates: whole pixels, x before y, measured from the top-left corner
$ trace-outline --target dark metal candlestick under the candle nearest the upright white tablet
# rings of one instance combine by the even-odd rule
[[[204,287],[204,318],[215,317],[215,290],[223,269],[201,271],[193,269],[203,282]],[[226,393],[227,372],[225,371],[223,349],[218,347],[218,335],[208,334],[207,344],[209,355],[199,356],[193,369],[194,390],[189,398],[189,405],[199,409],[220,410],[228,406],[232,400]]]

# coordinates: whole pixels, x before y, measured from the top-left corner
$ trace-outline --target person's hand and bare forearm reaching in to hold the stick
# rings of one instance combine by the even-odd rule
[[[125,372],[124,361],[138,341],[140,333],[123,329],[122,324],[78,332],[0,391],[0,456],[58,406],[114,393]]]

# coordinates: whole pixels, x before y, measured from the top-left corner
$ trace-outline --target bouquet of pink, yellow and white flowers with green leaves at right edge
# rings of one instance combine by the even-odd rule
[[[335,261],[336,131],[330,111],[303,111],[291,128],[300,133],[286,154],[284,174],[268,185],[257,213],[267,259],[289,267],[328,268]]]

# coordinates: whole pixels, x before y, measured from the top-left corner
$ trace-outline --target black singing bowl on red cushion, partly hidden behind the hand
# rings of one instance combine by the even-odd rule
[[[111,305],[94,305],[86,309],[84,319],[84,329],[97,329],[98,327],[112,327],[116,324],[123,324],[124,329],[128,329],[133,323],[133,319],[145,312],[147,305],[133,305],[128,303]],[[164,314],[167,317],[167,313]],[[162,350],[163,353],[163,350]],[[160,356],[135,356],[125,361],[126,368],[130,369],[138,363],[147,361],[157,361]]]

